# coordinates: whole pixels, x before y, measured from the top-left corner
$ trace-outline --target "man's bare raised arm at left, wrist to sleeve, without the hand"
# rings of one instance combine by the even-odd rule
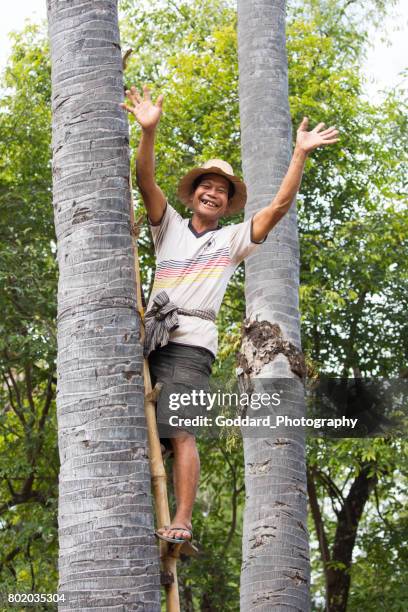
[[[156,130],[142,129],[136,158],[136,180],[153,225],[160,223],[166,208],[166,198],[155,180],[154,141]]]

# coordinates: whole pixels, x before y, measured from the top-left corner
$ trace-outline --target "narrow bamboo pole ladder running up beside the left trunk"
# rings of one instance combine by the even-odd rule
[[[132,177],[129,170],[130,188],[130,226],[135,258],[135,277],[136,277],[136,299],[137,309],[141,323],[141,341],[144,340],[144,308],[142,302],[142,290],[140,280],[140,266],[138,258],[137,239],[140,231],[141,219],[135,222],[134,203],[132,191]],[[160,447],[159,433],[156,422],[156,399],[160,391],[159,385],[152,389],[150,370],[147,359],[143,360],[143,378],[145,388],[145,415],[147,425],[147,438],[149,444],[149,463],[152,477],[153,498],[156,510],[157,527],[170,524],[170,512],[167,496],[166,470],[163,464],[163,457]],[[161,560],[161,584],[166,590],[166,609],[167,612],[180,612],[180,599],[177,582],[177,559],[180,555],[196,556],[197,549],[190,542],[183,544],[171,544],[160,540],[160,560]]]

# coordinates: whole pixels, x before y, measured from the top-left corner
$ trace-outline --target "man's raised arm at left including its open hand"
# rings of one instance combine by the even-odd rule
[[[162,113],[163,96],[160,95],[156,104],[153,104],[146,85],[143,87],[143,97],[134,86],[126,91],[126,96],[132,105],[121,104],[121,106],[135,116],[142,128],[136,159],[137,186],[150,221],[153,225],[157,225],[166,208],[166,198],[155,180],[154,161],[154,141]]]

